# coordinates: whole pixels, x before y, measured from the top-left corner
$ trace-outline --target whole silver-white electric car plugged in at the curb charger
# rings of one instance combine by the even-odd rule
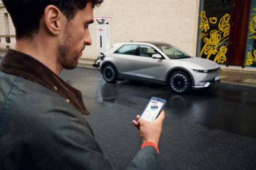
[[[96,64],[96,62],[98,63]],[[104,80],[143,80],[168,85],[174,92],[202,89],[220,82],[220,66],[212,60],[190,57],[168,43],[116,44],[94,64]]]

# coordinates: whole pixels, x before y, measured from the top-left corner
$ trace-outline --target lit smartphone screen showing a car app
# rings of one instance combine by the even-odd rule
[[[147,108],[141,115],[141,118],[146,120],[147,122],[153,122],[161,108],[163,107],[163,103],[160,101],[151,100],[148,104]]]

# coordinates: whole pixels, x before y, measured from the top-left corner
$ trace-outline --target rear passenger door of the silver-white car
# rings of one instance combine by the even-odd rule
[[[115,56],[115,66],[119,74],[134,75],[136,70],[136,60],[134,57],[138,53],[138,45],[122,45],[113,53]]]

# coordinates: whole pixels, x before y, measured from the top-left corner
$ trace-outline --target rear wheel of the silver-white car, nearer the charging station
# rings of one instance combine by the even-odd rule
[[[115,66],[106,64],[102,68],[102,76],[108,83],[115,83],[117,79],[117,72]]]

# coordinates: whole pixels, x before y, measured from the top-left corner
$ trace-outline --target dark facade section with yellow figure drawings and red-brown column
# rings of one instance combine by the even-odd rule
[[[256,67],[256,1],[201,0],[196,54],[226,66]]]

